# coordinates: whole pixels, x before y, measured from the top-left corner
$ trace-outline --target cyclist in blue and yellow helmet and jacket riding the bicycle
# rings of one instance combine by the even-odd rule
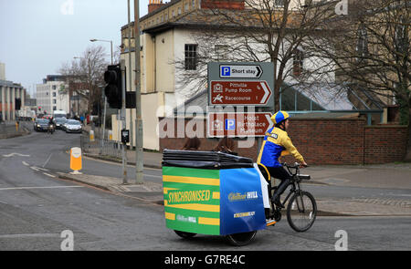
[[[267,167],[269,174],[281,182],[274,192],[272,200],[279,206],[284,208],[284,205],[279,202],[279,196],[290,185],[291,175],[290,172],[282,167],[279,162],[279,157],[292,154],[295,159],[300,161],[301,167],[306,167],[307,163],[301,156],[299,151],[292,144],[287,129],[290,127],[290,115],[285,111],[278,111],[275,113],[271,120],[274,122],[274,127],[268,129],[264,137],[261,150],[259,150],[258,160],[259,164]]]

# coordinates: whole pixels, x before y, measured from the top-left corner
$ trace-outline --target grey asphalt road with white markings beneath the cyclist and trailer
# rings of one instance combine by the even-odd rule
[[[179,238],[165,228],[161,205],[58,179],[56,172],[69,171],[67,150],[74,146],[79,135],[61,131],[0,140],[0,250],[58,251],[67,230],[74,250],[238,250],[220,236]],[[121,175],[117,164],[85,159],[83,166],[84,173]],[[161,171],[144,170],[144,180],[160,182]],[[353,188],[307,188],[314,195],[357,196]],[[368,191],[361,193],[395,190]],[[284,218],[241,250],[335,250],[339,230],[346,231],[349,250],[410,250],[410,223],[411,217],[318,217],[309,232],[295,233]]]

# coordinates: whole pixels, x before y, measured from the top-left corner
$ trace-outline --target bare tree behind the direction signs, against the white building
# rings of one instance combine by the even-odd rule
[[[309,36],[318,35],[323,21],[336,16],[335,5],[309,5],[310,1],[304,0],[228,3],[232,5],[220,6],[219,2],[210,1],[199,15],[187,16],[191,24],[201,26],[202,30],[193,37],[198,44],[195,70],[187,68],[187,55],[175,63],[183,75],[180,78],[184,78],[184,86],[190,83],[192,87],[204,88],[207,62],[269,61],[274,65],[274,108],[278,110],[284,81],[308,81],[308,77],[316,73],[314,69],[311,72],[302,69],[302,61],[311,57],[305,41]],[[322,64],[315,68],[323,67]]]

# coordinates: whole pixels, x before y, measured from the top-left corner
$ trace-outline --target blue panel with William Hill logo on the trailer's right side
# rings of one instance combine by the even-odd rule
[[[220,234],[266,228],[258,171],[254,168],[220,171]]]

